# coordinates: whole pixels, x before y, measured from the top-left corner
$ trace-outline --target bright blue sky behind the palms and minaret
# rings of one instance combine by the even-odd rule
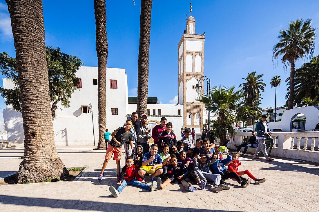
[[[125,68],[129,95],[136,95],[140,1],[107,1],[108,67]],[[319,28],[319,1],[215,1],[193,0],[196,33],[205,32],[205,75],[211,86],[244,82],[248,73],[264,74],[267,84],[262,108],[274,107],[275,75],[289,75],[283,64],[272,62],[272,47],[278,32],[296,18],[312,18]],[[152,6],[149,66],[149,96],[173,103],[177,95],[177,45],[186,27],[188,0],[159,1]],[[86,66],[97,66],[93,1],[43,1],[46,45],[60,47],[81,58]],[[189,15],[189,12],[188,12]],[[319,54],[319,38],[315,55]],[[0,52],[15,57],[9,14],[0,0]],[[307,61],[307,59],[305,60]],[[298,60],[300,67],[304,60]],[[1,76],[2,78],[3,76]],[[2,86],[2,80],[0,81]],[[285,103],[286,83],[277,89],[277,105]],[[5,108],[0,97],[0,108]],[[2,113],[0,113],[2,121]]]

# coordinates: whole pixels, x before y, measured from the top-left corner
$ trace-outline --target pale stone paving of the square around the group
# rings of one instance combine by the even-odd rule
[[[241,188],[226,180],[231,189],[219,193],[193,193],[171,184],[153,192],[127,186],[118,198],[110,195],[116,183],[116,165],[111,160],[101,183],[97,178],[105,151],[93,146],[57,147],[66,167],[88,166],[77,181],[0,186],[0,211],[319,211],[319,164],[275,159],[272,162],[241,157],[240,170],[248,169],[265,183]],[[18,170],[23,148],[0,149],[0,174]],[[124,166],[124,161],[121,161]]]

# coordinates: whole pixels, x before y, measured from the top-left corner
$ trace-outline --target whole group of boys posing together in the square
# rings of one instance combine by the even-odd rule
[[[133,115],[137,117],[136,112]],[[208,138],[198,138],[195,145],[189,128],[185,129],[182,140],[177,141],[173,125],[170,122],[167,123],[165,117],[161,118],[161,124],[155,126],[151,134],[146,114],[141,116],[142,120],[136,118],[134,122],[135,118],[132,116],[125,122],[124,127],[119,127],[111,133],[112,139],[108,143],[105,160],[98,178],[99,181],[102,180],[104,169],[114,155],[118,185],[117,189],[110,186],[110,192],[114,197],[117,197],[126,185],[154,191],[155,189],[163,189],[169,183],[178,182],[182,183],[189,192],[198,190],[197,187],[193,186],[193,182],[196,182],[201,189],[204,189],[205,185],[211,182],[210,189],[217,192],[230,189],[224,181],[229,178],[236,180],[241,187],[245,188],[249,185],[250,178],[246,179],[241,176],[247,173],[236,172],[238,166],[241,165],[237,161],[239,158],[237,153],[231,156],[227,152],[226,159],[220,158],[222,156],[216,151],[217,145],[210,142]],[[133,132],[131,131],[132,126],[134,126]],[[133,138],[134,136],[136,137]],[[148,139],[151,137],[154,139],[154,144],[149,151]],[[135,143],[133,143],[134,139]],[[144,142],[144,139],[147,141]],[[132,154],[128,155],[129,151],[125,151],[126,165],[120,173],[121,146],[125,143],[128,145],[126,149],[130,148]],[[234,166],[234,169],[229,171],[230,168],[227,170],[225,166]],[[148,174],[150,174],[152,181],[151,185],[145,181],[145,175]],[[255,177],[253,179],[257,184],[265,181],[265,179]]]

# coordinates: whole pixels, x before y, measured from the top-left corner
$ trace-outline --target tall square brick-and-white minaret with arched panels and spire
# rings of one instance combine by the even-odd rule
[[[183,127],[194,127],[196,132],[203,127],[203,104],[195,100],[195,85],[204,75],[204,34],[195,34],[195,18],[189,16],[178,44],[178,103],[184,104]]]

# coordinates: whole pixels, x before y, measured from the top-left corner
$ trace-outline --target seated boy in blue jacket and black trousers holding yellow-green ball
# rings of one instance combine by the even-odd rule
[[[250,179],[243,178],[241,176],[238,176],[235,172],[229,172],[227,173],[226,167],[232,162],[232,157],[229,155],[227,152],[227,158],[226,159],[219,159],[219,154],[218,152],[215,152],[213,155],[213,159],[216,160],[214,164],[211,165],[211,168],[214,170],[215,174],[220,174],[221,175],[221,183],[225,184],[226,179],[229,178],[234,178],[237,180],[239,184],[241,184],[241,187],[246,188],[249,183]]]

